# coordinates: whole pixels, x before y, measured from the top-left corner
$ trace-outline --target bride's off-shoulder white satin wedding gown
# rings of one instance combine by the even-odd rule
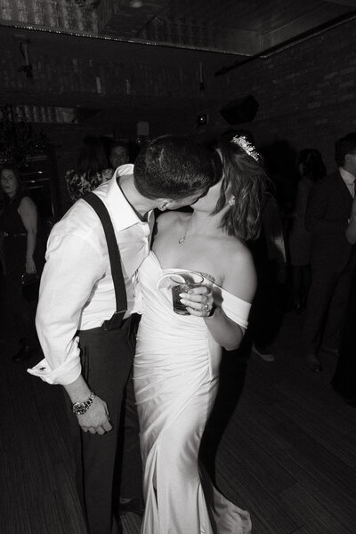
[[[182,269],[162,269],[158,257],[142,263],[143,315],[134,359],[140,418],[143,492],[142,534],[247,534],[248,512],[215,490],[200,472],[198,449],[218,386],[221,349],[205,321],[178,315],[169,288],[158,279]],[[250,304],[213,285],[231,320],[247,327]]]

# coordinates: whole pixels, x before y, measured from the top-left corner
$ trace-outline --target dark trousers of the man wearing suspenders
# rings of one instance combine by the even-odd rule
[[[90,534],[117,534],[114,512],[119,494],[142,498],[139,423],[131,376],[137,324],[134,316],[117,330],[93,328],[78,333],[82,375],[107,402],[113,425],[103,435],[84,433],[68,400],[77,490]]]

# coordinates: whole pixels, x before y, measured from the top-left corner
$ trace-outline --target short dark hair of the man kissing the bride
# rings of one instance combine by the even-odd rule
[[[219,182],[220,158],[187,137],[163,135],[141,150],[134,183],[146,198],[184,198]]]

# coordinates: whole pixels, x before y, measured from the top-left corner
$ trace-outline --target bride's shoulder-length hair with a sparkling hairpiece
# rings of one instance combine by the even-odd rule
[[[226,195],[233,195],[235,204],[223,214],[222,228],[229,235],[248,241],[257,239],[261,231],[268,178],[255,147],[246,142],[242,142],[241,146],[240,139],[218,142],[214,147],[223,161],[221,195],[214,214],[226,206]]]

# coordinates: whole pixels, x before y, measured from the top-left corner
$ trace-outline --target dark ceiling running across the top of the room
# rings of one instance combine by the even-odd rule
[[[0,23],[248,57],[355,10],[356,0],[7,0]]]

